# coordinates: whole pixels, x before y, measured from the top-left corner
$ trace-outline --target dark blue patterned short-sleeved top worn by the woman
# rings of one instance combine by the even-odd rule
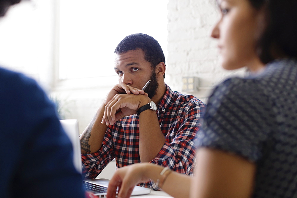
[[[255,162],[253,197],[297,197],[297,60],[230,78],[209,98],[198,147]]]

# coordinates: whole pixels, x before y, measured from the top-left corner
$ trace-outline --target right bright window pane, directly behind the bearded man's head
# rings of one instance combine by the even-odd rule
[[[116,76],[114,49],[133,33],[153,36],[167,57],[168,0],[63,0],[59,4],[60,80]]]

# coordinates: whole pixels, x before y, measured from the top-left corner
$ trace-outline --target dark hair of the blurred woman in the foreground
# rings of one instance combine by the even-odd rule
[[[297,58],[297,0],[249,0],[255,9],[264,9],[266,28],[257,44],[263,63],[276,58],[274,52]]]

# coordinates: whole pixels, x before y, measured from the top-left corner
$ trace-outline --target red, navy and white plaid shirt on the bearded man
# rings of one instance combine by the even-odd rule
[[[173,92],[167,84],[166,86],[167,91],[156,111],[166,141],[151,163],[192,176],[195,139],[206,106],[198,98]],[[98,152],[82,154],[83,175],[87,179],[96,178],[114,158],[117,167],[139,163],[138,145],[139,116],[126,116],[108,127]],[[152,181],[140,186],[158,189]]]

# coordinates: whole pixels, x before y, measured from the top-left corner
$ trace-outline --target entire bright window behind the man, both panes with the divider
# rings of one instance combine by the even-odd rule
[[[46,90],[117,83],[114,49],[146,33],[167,57],[168,0],[30,0],[0,19],[0,65]],[[108,84],[109,83],[109,84]]]

